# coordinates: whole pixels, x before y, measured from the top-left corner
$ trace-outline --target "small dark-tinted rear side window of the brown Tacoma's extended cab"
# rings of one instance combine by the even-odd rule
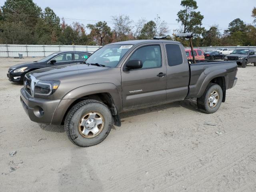
[[[175,66],[183,63],[183,57],[179,45],[166,44],[165,47],[169,66]]]

